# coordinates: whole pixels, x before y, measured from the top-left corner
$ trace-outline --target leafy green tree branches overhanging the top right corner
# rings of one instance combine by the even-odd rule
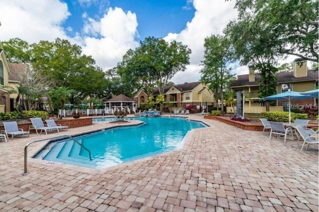
[[[318,0],[236,0],[239,20],[251,17],[282,55],[318,62]]]

